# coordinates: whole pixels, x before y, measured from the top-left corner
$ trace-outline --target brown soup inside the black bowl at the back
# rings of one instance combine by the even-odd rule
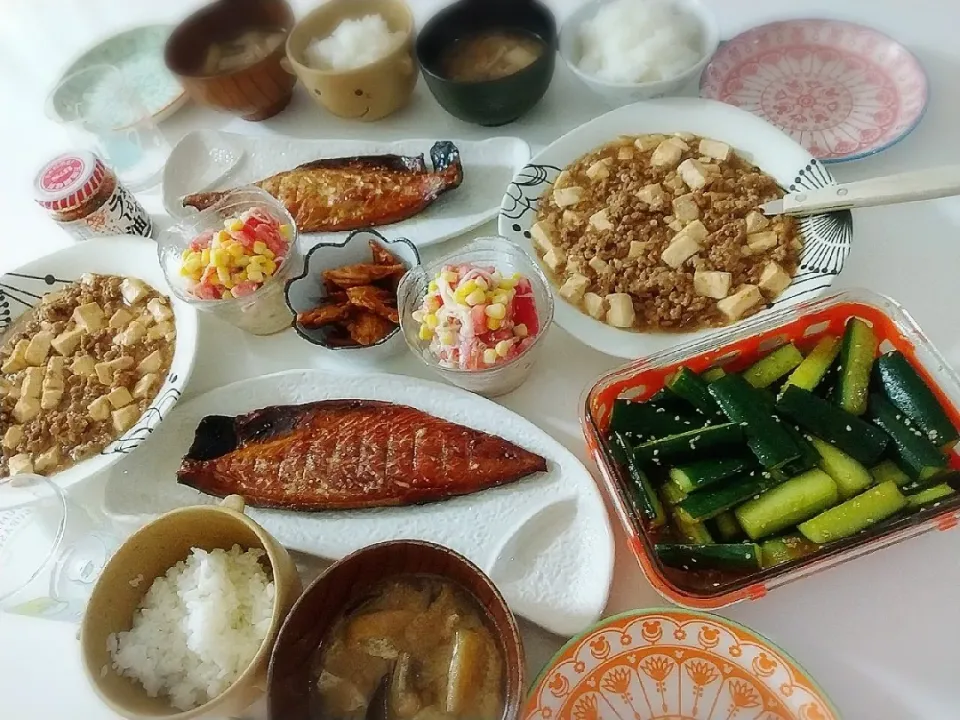
[[[488,30],[457,40],[443,54],[444,75],[457,82],[499,80],[543,55],[543,41],[520,30]]]

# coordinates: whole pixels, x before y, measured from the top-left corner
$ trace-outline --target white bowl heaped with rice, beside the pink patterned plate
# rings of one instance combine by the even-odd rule
[[[570,70],[614,107],[681,94],[719,44],[700,0],[593,0],[567,18],[559,39]]]

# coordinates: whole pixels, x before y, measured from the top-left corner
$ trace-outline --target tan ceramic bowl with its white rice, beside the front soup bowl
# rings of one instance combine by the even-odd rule
[[[231,496],[134,533],[100,575],[80,629],[100,698],[131,720],[239,715],[302,586],[287,551]]]

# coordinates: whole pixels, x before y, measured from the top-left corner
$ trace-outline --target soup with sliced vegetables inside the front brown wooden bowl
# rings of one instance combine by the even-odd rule
[[[394,720],[499,720],[503,658],[484,618],[447,580],[384,582],[321,645],[319,717],[363,720],[371,703],[386,703]]]

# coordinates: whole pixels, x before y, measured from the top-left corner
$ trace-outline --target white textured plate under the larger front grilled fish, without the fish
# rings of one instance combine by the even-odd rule
[[[291,370],[227,385],[184,403],[135,461],[118,465],[104,495],[114,517],[142,521],[217,498],[177,484],[180,459],[206,415],[333,398],[383,400],[499,435],[547,459],[548,471],[430,505],[321,513],[248,514],[287,547],[339,559],[372,543],[414,538],[452,548],[497,584],[515,612],[570,635],[596,621],[613,575],[613,535],[590,473],[528,420],[477,395],[398,375]]]

